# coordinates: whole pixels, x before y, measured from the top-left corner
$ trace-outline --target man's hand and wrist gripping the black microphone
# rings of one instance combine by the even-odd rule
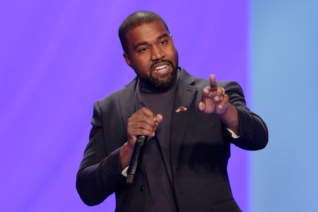
[[[162,115],[155,114],[148,108],[135,112],[129,119],[127,124],[127,138],[128,141],[121,147],[120,160],[122,170],[124,170],[130,162],[131,155],[134,150],[137,136],[144,135],[151,138],[155,136],[157,126],[162,121]]]

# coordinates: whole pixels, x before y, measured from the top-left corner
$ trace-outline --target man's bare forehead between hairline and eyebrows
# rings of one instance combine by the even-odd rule
[[[161,21],[154,21],[149,24],[131,29],[127,32],[126,37],[128,40],[128,46],[135,46],[139,42],[151,42],[158,38],[158,36],[169,32]]]

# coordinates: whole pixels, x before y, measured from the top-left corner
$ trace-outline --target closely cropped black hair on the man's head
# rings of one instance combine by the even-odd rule
[[[118,29],[118,36],[121,42],[122,49],[128,53],[128,39],[127,32],[135,29],[136,27],[152,23],[154,21],[161,21],[169,32],[168,26],[164,20],[156,13],[150,11],[138,11],[130,14],[120,25]],[[170,32],[169,32],[170,33]]]

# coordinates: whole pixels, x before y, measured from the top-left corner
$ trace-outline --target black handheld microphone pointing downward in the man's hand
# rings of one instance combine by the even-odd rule
[[[143,150],[145,149],[148,136],[137,136],[134,151],[130,159],[129,167],[127,170],[126,184],[131,185],[135,179],[135,172],[138,161],[142,158]]]

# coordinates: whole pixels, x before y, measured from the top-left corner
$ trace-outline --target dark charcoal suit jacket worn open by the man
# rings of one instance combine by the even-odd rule
[[[195,78],[183,68],[174,99],[170,129],[171,167],[176,203],[180,211],[241,211],[233,199],[227,174],[230,144],[259,150],[266,146],[268,131],[263,120],[245,104],[236,82],[217,82],[237,108],[240,137],[232,138],[220,119],[198,110],[202,90],[209,80]],[[76,188],[85,204],[100,204],[115,192],[115,211],[144,211],[143,166],[138,166],[133,185],[121,174],[119,151],[127,141],[128,118],[136,112],[137,78],[95,102],[90,140],[76,178]],[[173,201],[173,200],[172,200]]]

